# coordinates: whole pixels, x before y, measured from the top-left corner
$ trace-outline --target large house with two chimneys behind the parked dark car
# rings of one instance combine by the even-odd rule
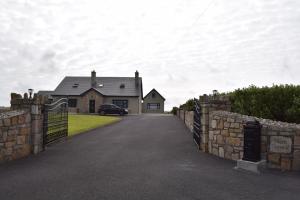
[[[91,77],[66,76],[53,92],[39,94],[68,98],[69,112],[96,113],[104,103],[126,108],[131,114],[142,112],[143,84],[138,71],[134,77],[96,77],[95,71]]]

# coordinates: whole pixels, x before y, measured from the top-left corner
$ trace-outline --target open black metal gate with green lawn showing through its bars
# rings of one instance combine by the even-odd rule
[[[43,125],[44,146],[68,136],[68,99],[45,105]]]

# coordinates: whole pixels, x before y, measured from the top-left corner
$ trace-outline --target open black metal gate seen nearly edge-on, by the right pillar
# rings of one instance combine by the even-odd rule
[[[194,99],[194,128],[193,128],[193,138],[195,143],[200,148],[200,142],[201,142],[201,134],[202,134],[202,128],[201,128],[201,107],[199,100]]]

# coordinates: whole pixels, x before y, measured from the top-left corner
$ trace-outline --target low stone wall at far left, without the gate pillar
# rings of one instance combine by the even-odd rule
[[[28,111],[0,114],[0,162],[31,153],[31,115]]]

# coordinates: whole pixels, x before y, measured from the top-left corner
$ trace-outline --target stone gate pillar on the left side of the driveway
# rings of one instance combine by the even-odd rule
[[[46,99],[42,96],[34,94],[33,98],[28,98],[25,93],[22,98],[21,95],[11,94],[11,109],[13,110],[28,110],[31,114],[31,136],[30,145],[32,152],[37,154],[43,150],[43,107]]]

